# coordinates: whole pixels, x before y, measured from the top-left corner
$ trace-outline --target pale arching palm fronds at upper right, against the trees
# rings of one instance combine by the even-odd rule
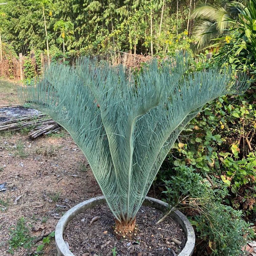
[[[212,40],[228,33],[232,21],[238,19],[244,8],[242,3],[236,1],[223,1],[221,5],[199,5],[192,13],[193,19],[199,19],[193,27],[197,49],[212,45]]]

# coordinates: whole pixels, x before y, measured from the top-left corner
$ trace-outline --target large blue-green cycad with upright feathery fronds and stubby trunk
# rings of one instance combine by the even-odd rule
[[[186,73],[181,55],[153,60],[137,74],[82,58],[53,64],[21,102],[51,116],[86,156],[116,219],[119,236],[133,234],[136,213],[167,153],[204,104],[241,94],[246,77],[229,70]]]

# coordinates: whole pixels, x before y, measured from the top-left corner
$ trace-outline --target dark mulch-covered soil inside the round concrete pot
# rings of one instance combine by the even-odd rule
[[[171,217],[156,224],[162,215],[160,210],[142,206],[136,216],[140,229],[136,238],[118,240],[114,235],[113,215],[107,204],[101,204],[76,215],[64,231],[64,240],[77,256],[178,255],[185,246],[186,235]],[[99,219],[89,225],[96,216]]]

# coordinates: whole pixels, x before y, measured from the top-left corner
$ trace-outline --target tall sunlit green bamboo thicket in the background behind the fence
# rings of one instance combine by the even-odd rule
[[[153,53],[165,53],[172,44],[186,39],[192,24],[188,13],[195,4],[195,0],[193,5],[188,0],[177,0],[175,5],[162,0],[15,0],[1,7],[5,13],[1,31],[3,41],[11,42],[15,51],[23,54],[46,49],[46,40],[49,47],[58,45],[55,27],[60,21],[73,24],[69,26],[73,36],[65,39],[67,51],[144,54],[152,53],[152,43]],[[180,34],[186,29],[186,34]]]

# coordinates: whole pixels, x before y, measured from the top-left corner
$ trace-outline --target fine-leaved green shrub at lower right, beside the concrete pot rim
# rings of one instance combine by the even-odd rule
[[[211,255],[237,256],[242,253],[245,235],[250,237],[250,225],[242,219],[241,210],[223,204],[228,190],[222,182],[217,183],[218,188],[212,189],[209,181],[194,169],[180,167],[175,170],[176,175],[165,181],[163,193],[169,204],[190,209],[187,215],[193,212],[190,222],[199,233],[200,248],[204,248],[203,244],[208,245]]]

